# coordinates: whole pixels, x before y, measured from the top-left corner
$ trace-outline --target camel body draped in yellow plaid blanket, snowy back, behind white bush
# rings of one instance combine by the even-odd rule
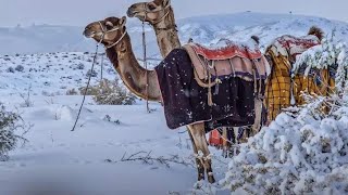
[[[291,79],[290,72],[296,56],[308,49],[321,44],[323,39],[322,29],[312,26],[307,36],[294,37],[282,36],[266,48],[265,56],[271,64],[271,75],[265,89],[265,105],[268,107],[268,121],[270,123],[282,112],[283,108],[291,105],[304,104],[302,92],[327,96],[335,86],[327,69],[312,69],[314,76],[321,76],[321,86],[316,84],[313,76],[304,77],[303,73],[297,73]],[[306,66],[306,65],[304,65]],[[291,100],[294,96],[294,100]]]

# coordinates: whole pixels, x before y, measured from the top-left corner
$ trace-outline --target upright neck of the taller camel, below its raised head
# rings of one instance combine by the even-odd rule
[[[157,42],[163,57],[165,57],[172,50],[181,47],[173,9],[170,8],[169,12],[167,16],[165,16],[160,23],[153,25]]]

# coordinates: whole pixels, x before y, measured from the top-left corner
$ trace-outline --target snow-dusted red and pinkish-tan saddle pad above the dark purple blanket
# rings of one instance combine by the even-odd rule
[[[185,44],[184,49],[200,80],[207,80],[209,74],[213,78],[232,75],[247,81],[266,78],[268,61],[259,50],[252,51],[235,44],[210,50],[196,43]]]

